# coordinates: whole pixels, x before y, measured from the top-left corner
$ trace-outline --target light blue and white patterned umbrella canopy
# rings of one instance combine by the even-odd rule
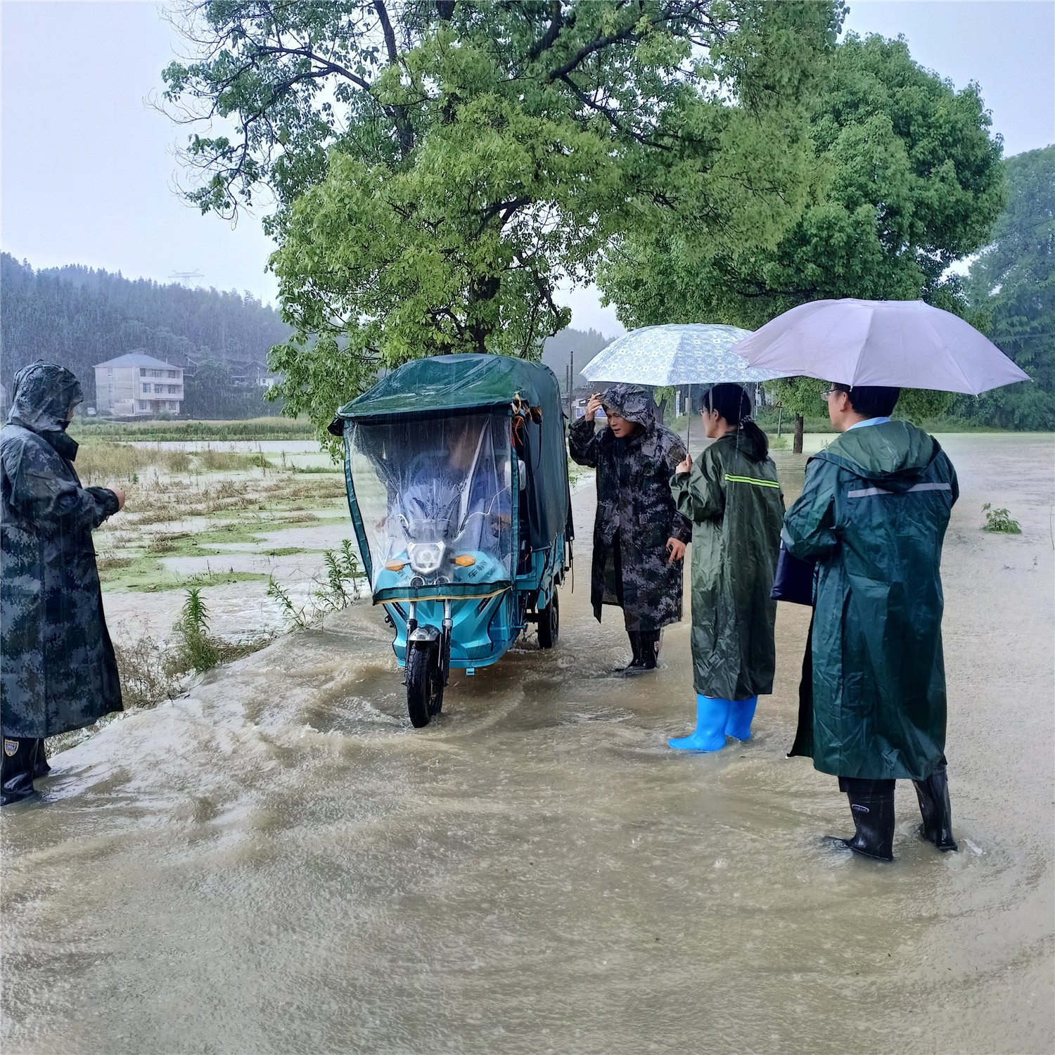
[[[752,369],[731,350],[750,332],[738,326],[702,323],[642,326],[591,359],[582,377],[638,385],[754,384],[787,377],[786,370]]]

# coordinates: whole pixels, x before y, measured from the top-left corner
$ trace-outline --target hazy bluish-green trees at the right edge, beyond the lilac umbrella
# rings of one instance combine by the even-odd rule
[[[964,401],[962,413],[1009,428],[1055,428],[1055,146],[1004,161],[1008,207],[971,268],[971,306],[1033,378]]]

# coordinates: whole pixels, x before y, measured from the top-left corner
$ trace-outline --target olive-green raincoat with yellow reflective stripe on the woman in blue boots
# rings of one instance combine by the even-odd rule
[[[776,466],[737,430],[715,440],[671,479],[692,521],[692,679],[696,692],[750,699],[773,691],[776,663],[769,593],[784,496]]]

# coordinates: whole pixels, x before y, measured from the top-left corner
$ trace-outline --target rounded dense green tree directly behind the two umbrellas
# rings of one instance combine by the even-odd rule
[[[614,242],[601,286],[628,325],[726,322],[755,328],[806,301],[923,298],[962,312],[943,274],[989,235],[1001,206],[999,138],[976,85],[957,92],[913,61],[904,41],[849,36],[810,103],[809,183],[772,247],[714,237],[692,204],[652,210]],[[785,384],[797,415],[820,410],[822,386]],[[933,411],[942,397],[913,395]]]

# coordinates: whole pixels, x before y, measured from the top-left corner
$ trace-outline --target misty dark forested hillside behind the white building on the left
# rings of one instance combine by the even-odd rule
[[[268,349],[289,332],[277,311],[248,294],[162,286],[79,266],[35,271],[0,253],[0,382],[8,388],[20,367],[44,359],[73,370],[91,404],[92,367],[134,349],[189,372],[209,363],[214,378],[218,368],[237,388],[239,378],[265,370]],[[191,415],[193,389],[189,384],[184,407]],[[238,417],[273,413],[258,391],[250,400],[246,395],[232,397],[230,409]]]

